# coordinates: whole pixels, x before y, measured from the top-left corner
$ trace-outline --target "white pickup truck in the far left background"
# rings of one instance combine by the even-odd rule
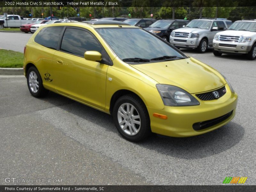
[[[36,20],[35,20],[36,21]],[[20,27],[23,24],[34,23],[32,20],[24,20],[20,15],[5,15],[0,17],[0,28],[4,27]]]

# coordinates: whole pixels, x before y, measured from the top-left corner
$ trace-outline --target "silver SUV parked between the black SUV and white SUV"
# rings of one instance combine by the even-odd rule
[[[170,43],[177,48],[196,48],[204,53],[212,47],[216,33],[226,30],[232,21],[226,19],[195,19],[186,27],[175,29],[170,36]]]

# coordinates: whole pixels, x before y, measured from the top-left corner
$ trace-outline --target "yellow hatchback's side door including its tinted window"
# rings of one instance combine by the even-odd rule
[[[105,49],[90,31],[66,27],[59,51],[54,55],[55,88],[63,95],[104,109],[108,65],[85,60],[86,51],[98,51],[102,58],[108,57]]]

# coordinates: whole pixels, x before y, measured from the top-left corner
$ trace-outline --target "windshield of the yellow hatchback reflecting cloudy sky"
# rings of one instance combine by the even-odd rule
[[[186,58],[181,52],[174,50],[169,44],[143,29],[99,28],[96,30],[121,60],[127,58],[150,60],[163,56]]]

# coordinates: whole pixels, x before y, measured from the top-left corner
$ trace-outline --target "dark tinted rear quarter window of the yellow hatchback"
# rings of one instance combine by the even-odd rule
[[[51,49],[57,49],[62,26],[46,27],[39,31],[35,42]]]

